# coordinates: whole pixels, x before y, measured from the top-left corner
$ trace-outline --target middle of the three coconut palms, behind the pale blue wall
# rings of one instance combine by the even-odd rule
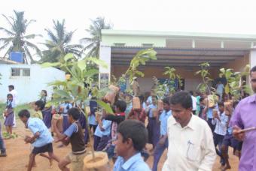
[[[43,43],[48,49],[43,52],[42,62],[58,62],[69,52],[81,56],[83,46],[69,44],[75,31],[66,31],[65,20],[53,20],[53,30],[46,28],[45,31],[50,39]]]

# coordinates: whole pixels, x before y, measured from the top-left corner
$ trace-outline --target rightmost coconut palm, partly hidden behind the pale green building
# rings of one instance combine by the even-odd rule
[[[111,29],[113,26],[110,23],[105,23],[104,17],[97,17],[96,20],[91,20],[89,29],[86,29],[90,33],[91,37],[84,37],[81,42],[87,43],[84,47],[85,50],[89,50],[87,56],[99,57],[99,46],[102,40],[102,29]]]

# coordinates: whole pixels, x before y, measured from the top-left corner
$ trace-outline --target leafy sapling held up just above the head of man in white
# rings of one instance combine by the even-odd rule
[[[169,92],[174,93],[175,92],[175,80],[178,80],[178,85],[182,86],[181,77],[176,74],[175,68],[165,67],[166,71],[163,73],[163,75],[167,75],[169,78],[166,80],[165,84],[169,88]]]

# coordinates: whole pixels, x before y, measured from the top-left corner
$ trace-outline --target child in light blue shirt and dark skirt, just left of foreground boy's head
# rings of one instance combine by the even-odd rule
[[[99,127],[100,134],[102,135],[99,141],[97,142],[97,148],[96,151],[102,151],[106,145],[108,145],[108,141],[111,139],[111,123],[112,121],[108,121],[105,119],[106,113],[105,110],[102,112],[102,118],[98,119],[98,126],[96,130]],[[99,134],[99,135],[100,135]]]

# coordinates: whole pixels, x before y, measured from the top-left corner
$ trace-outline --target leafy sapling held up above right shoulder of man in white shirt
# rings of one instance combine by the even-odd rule
[[[199,65],[200,66],[200,71],[196,72],[196,75],[200,74],[200,77],[202,78],[202,83],[200,83],[197,86],[197,90],[199,90],[202,93],[206,93],[208,92],[209,94],[212,94],[211,89],[209,87],[209,83],[212,81],[212,79],[210,78],[210,73],[209,73],[209,63],[205,62]]]

